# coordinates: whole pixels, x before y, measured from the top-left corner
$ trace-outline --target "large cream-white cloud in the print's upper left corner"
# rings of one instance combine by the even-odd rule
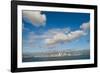
[[[45,26],[46,15],[41,14],[41,11],[24,10],[23,17],[28,18],[36,27]]]

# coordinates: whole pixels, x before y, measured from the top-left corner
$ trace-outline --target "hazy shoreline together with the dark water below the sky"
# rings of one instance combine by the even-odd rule
[[[89,50],[53,51],[23,54],[23,62],[90,59]]]

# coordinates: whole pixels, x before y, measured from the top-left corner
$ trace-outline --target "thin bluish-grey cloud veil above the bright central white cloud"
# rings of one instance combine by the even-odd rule
[[[35,32],[29,32],[29,39],[32,40],[36,40],[36,39],[48,39],[48,38],[52,38],[52,36],[54,36],[57,33],[68,33],[69,32],[69,28],[56,28],[56,29],[50,29],[46,32],[41,32],[40,35],[37,35]]]

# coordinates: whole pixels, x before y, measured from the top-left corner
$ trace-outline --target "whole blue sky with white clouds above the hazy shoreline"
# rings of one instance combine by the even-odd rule
[[[89,49],[90,14],[22,11],[23,53]]]

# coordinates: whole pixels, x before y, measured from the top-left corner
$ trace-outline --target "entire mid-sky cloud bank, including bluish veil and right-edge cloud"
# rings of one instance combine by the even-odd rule
[[[43,32],[41,35],[37,35],[35,32],[30,32],[27,42],[33,46],[36,44],[37,40],[39,40],[39,42],[42,43],[42,48],[51,48],[62,42],[69,43],[87,35],[87,32],[84,30],[88,30],[89,28],[90,24],[88,22],[83,23],[78,30],[74,31],[71,31],[70,28],[52,28]]]

